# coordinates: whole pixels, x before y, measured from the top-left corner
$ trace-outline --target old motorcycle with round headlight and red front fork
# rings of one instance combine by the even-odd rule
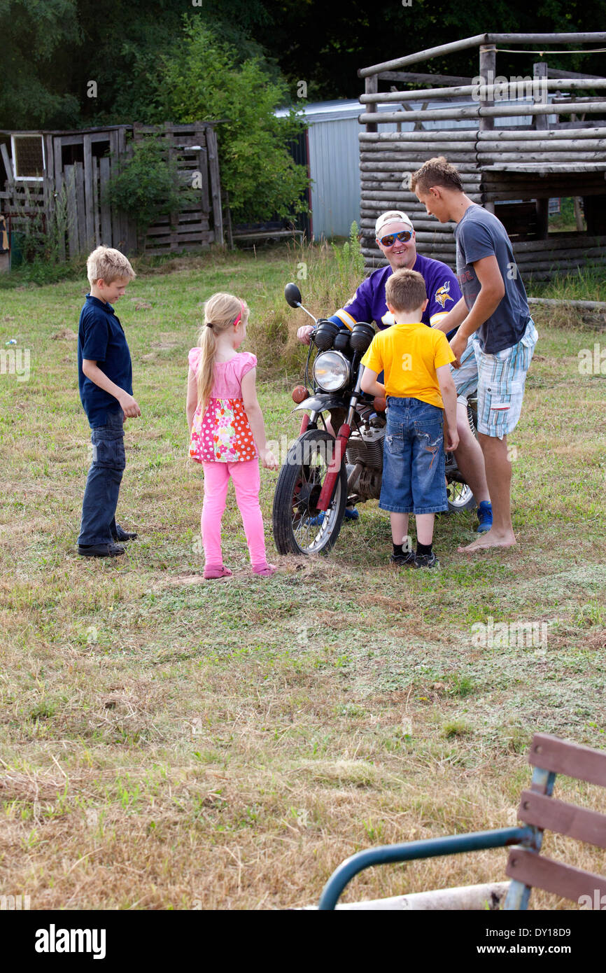
[[[338,537],[345,507],[378,499],[387,419],[384,398],[361,390],[361,360],[374,327],[354,324],[351,331],[315,318],[302,304],[297,284],[284,297],[314,323],[305,362],[304,387],[293,390],[295,409],[305,412],[299,437],[288,450],[273,496],[273,538],[279,554],[328,553]],[[313,351],[315,358],[310,360]],[[311,378],[311,381],[310,381]],[[313,394],[308,391],[312,384]],[[477,400],[468,406],[476,434]],[[330,418],[327,417],[330,415]],[[453,453],[446,452],[448,511],[470,510],[476,500]]]

